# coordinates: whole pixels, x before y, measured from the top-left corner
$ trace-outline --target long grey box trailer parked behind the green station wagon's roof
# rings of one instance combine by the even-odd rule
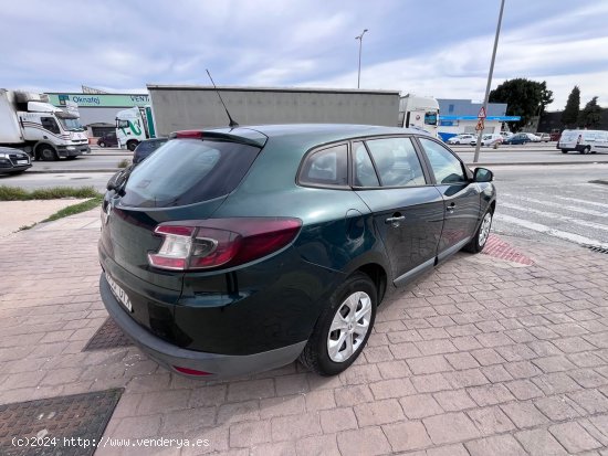
[[[221,94],[239,125],[367,124],[396,127],[398,91],[218,87],[148,84],[158,136],[192,128],[226,127]]]

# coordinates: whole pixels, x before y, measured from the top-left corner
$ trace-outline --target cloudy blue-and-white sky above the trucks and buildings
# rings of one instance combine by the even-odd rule
[[[608,1],[506,0],[492,87],[546,81],[549,109],[576,84],[608,107]],[[151,84],[361,88],[483,98],[500,0],[8,1],[0,86]]]

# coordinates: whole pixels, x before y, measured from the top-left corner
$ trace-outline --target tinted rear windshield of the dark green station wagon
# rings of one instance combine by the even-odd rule
[[[259,152],[258,147],[238,142],[172,139],[133,170],[122,204],[169,208],[226,195]]]

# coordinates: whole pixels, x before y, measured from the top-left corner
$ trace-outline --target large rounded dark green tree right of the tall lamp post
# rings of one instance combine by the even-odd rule
[[[506,115],[521,117],[521,120],[512,123],[517,131],[553,103],[553,92],[547,89],[545,81],[538,83],[518,77],[499,85],[490,92],[489,99],[491,103],[506,103]]]

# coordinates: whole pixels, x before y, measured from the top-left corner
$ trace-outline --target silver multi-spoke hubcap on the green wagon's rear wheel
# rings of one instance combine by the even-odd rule
[[[361,346],[369,331],[371,298],[365,291],[355,291],[339,306],[327,336],[327,353],[335,362],[349,359]]]

